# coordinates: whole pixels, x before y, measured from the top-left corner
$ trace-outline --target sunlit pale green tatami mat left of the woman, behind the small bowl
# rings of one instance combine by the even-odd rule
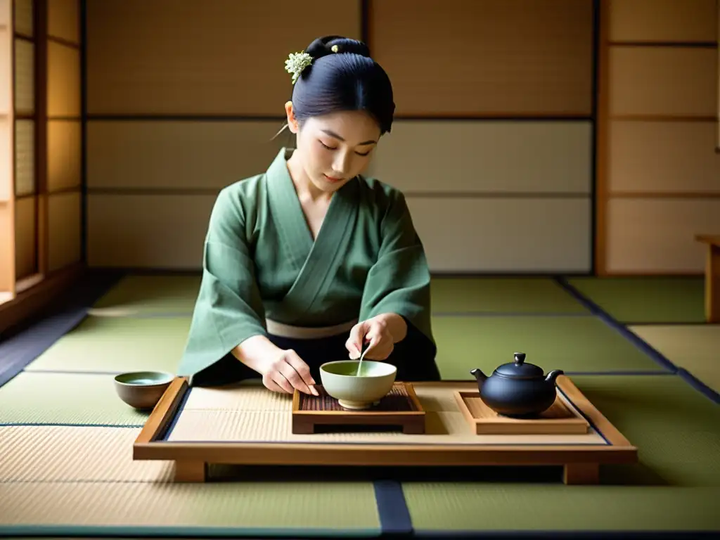
[[[89,316],[27,366],[27,371],[174,373],[191,318]]]

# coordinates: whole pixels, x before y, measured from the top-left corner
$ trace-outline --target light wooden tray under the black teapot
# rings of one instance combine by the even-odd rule
[[[464,417],[477,435],[571,435],[588,433],[588,420],[558,395],[540,418],[508,418],[485,405],[475,392],[454,392]]]

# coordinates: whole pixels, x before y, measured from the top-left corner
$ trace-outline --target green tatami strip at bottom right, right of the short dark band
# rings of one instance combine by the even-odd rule
[[[415,531],[716,531],[720,488],[418,482]],[[622,536],[619,536],[622,538]]]

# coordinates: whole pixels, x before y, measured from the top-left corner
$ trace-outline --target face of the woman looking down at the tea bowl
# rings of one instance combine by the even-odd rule
[[[380,138],[380,127],[362,111],[341,111],[297,125],[288,109],[288,124],[296,134],[296,153],[305,174],[323,192],[336,192],[369,165]]]

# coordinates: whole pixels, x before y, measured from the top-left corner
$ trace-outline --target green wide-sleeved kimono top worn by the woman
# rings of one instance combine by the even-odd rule
[[[218,195],[178,373],[197,374],[247,338],[268,336],[266,319],[318,327],[397,313],[434,357],[430,272],[402,193],[356,177],[333,195],[313,241],[290,155],[282,149],[264,174]]]

